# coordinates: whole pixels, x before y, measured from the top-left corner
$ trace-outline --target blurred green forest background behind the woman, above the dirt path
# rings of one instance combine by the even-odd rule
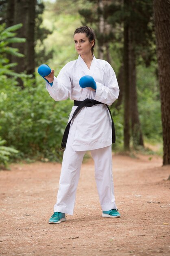
[[[1,166],[61,160],[73,103],[52,100],[37,67],[46,63],[57,76],[76,59],[73,33],[81,25],[95,30],[94,54],[111,64],[120,86],[111,106],[113,150],[147,152],[149,146],[163,155],[152,0],[1,0],[0,17]]]

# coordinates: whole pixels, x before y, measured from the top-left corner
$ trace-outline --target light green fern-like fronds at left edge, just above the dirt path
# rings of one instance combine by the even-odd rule
[[[0,138],[0,169],[6,169],[10,157],[18,153],[18,150],[15,150],[14,148],[3,146],[5,143],[6,141]]]

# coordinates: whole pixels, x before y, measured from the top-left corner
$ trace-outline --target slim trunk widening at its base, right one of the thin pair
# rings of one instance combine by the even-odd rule
[[[129,95],[130,95],[130,116],[131,128],[133,137],[133,146],[144,146],[142,130],[139,121],[139,112],[137,106],[137,91],[136,91],[136,56],[135,45],[133,40],[133,28],[129,28]]]

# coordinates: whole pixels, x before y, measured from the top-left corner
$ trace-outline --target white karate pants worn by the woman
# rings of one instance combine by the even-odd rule
[[[74,151],[72,146],[67,144],[63,154],[57,203],[54,205],[54,212],[59,211],[73,215],[76,189],[85,152]],[[117,209],[113,188],[111,146],[91,150],[91,154],[95,164],[95,179],[102,211]]]

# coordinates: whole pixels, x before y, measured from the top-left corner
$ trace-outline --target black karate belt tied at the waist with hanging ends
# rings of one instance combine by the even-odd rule
[[[78,107],[74,111],[72,119],[77,115],[77,113],[83,107],[92,107],[93,105],[96,105],[96,104],[103,104],[103,103],[99,102],[99,101],[95,101],[94,99],[85,99],[84,101],[74,101],[74,106],[78,106]],[[110,113],[110,116],[111,116],[111,111],[109,109],[109,106],[107,106],[107,109],[109,110],[109,113]],[[66,147],[66,144],[67,144],[67,139],[68,139],[68,134],[69,134],[69,130],[70,130],[70,124],[71,124],[72,119],[69,121],[69,123],[67,124],[67,126],[65,128],[63,139],[62,139],[62,142],[61,142],[61,150],[65,150],[65,147]],[[111,116],[111,121],[112,121],[112,143],[115,143],[116,135],[115,135],[115,127],[114,127],[114,122],[113,122],[112,116]]]

